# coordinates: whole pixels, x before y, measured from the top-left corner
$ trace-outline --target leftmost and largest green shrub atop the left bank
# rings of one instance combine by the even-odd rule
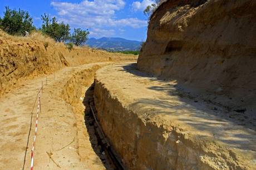
[[[9,7],[6,7],[3,18],[0,18],[0,28],[11,35],[25,35],[26,31],[31,32],[36,29],[27,11],[21,9],[16,11]]]

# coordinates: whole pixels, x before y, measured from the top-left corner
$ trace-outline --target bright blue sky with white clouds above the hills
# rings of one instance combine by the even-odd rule
[[[154,0],[0,0],[0,16],[4,7],[21,8],[33,17],[37,28],[41,14],[48,13],[58,21],[90,31],[90,37],[121,37],[145,40],[147,18],[143,11]]]

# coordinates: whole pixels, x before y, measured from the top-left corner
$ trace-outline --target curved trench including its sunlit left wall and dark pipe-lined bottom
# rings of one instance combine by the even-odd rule
[[[97,120],[97,111],[93,101],[94,76],[95,72],[108,64],[93,65],[88,69],[76,71],[64,85],[62,98],[67,102],[68,107],[75,113],[78,154],[81,159],[86,159],[86,150],[83,149],[86,126],[90,138],[91,147],[97,156],[101,159],[106,169],[125,169],[120,157],[111,147],[109,141],[101,129]]]

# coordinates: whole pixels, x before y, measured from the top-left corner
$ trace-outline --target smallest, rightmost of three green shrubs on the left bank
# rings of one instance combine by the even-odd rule
[[[88,40],[89,34],[90,32],[88,32],[88,29],[82,30],[81,28],[75,28],[70,40],[72,43],[78,46],[82,43],[85,43]]]

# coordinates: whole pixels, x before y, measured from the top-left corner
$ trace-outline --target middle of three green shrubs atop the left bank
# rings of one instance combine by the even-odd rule
[[[48,14],[41,16],[41,19],[43,22],[41,28],[43,34],[49,35],[56,42],[65,42],[70,38],[70,25],[63,22],[58,23],[56,17],[51,19]]]

